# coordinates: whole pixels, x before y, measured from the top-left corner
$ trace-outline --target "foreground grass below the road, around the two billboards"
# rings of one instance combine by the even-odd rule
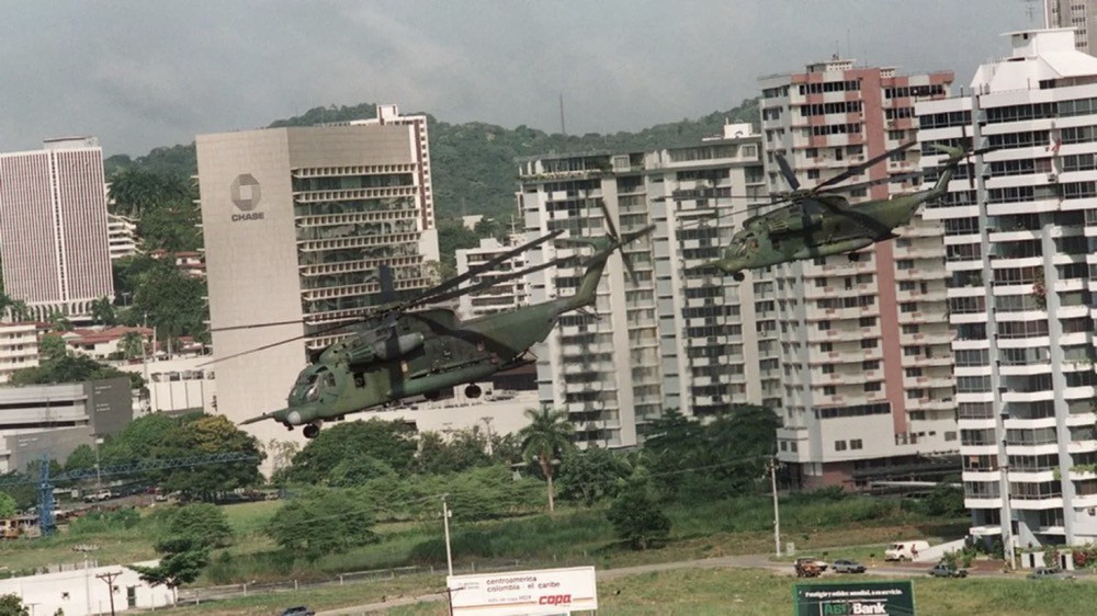
[[[885,578],[869,577],[878,581]],[[849,578],[842,578],[849,581]],[[827,578],[826,582],[835,581]],[[792,612],[792,589],[798,581],[790,574],[750,569],[687,569],[642,573],[600,582],[600,616],[716,616],[744,614],[771,616]],[[811,582],[801,582],[811,583]],[[289,605],[308,605],[333,609],[410,597],[437,592],[441,578],[407,578],[384,583],[358,584],[309,592],[249,597],[202,606],[182,607],[172,614],[185,615],[265,615],[276,614]],[[1067,585],[1068,584],[1068,585]],[[1097,583],[1033,582],[1007,580],[938,580],[914,578],[915,606],[919,614],[931,616],[996,614],[1005,616],[1090,614],[1097,603]],[[393,607],[394,616],[444,616],[444,602]]]

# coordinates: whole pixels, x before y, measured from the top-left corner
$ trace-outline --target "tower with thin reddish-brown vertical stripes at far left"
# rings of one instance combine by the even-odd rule
[[[88,315],[114,298],[103,150],[94,137],[50,139],[0,153],[0,259],[4,292],[36,319]]]

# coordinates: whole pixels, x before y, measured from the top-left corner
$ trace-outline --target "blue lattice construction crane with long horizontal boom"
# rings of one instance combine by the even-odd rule
[[[258,461],[259,456],[246,452],[226,452],[220,454],[206,454],[203,456],[186,456],[183,458],[147,459],[104,466],[102,468],[88,468],[71,470],[54,477],[49,476],[49,456],[42,454],[42,464],[38,471],[38,528],[42,536],[48,536],[57,531],[57,521],[54,518],[54,481],[82,481],[99,477],[121,477],[126,475],[137,475],[152,470],[168,470],[172,468],[185,468],[191,466],[204,466],[210,464],[229,464],[241,461]],[[0,477],[0,489],[13,486],[26,486],[35,483],[34,478],[15,475]]]

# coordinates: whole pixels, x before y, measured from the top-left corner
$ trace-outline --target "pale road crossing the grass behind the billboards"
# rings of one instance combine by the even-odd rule
[[[872,564],[868,568],[866,573],[870,575],[891,575],[891,577],[924,577],[927,575],[929,569],[932,567],[930,563],[880,563]],[[678,562],[657,562],[654,564],[638,564],[636,567],[622,567],[620,569],[600,569],[596,571],[596,575],[599,582],[617,580],[619,578],[626,578],[629,575],[636,575],[640,573],[654,573],[659,571],[676,571],[681,569],[768,569],[770,571],[776,571],[779,573],[792,574],[793,568],[791,562],[778,562],[770,560],[769,555],[750,555],[750,556],[724,556],[719,558],[702,558],[697,560],[682,560]],[[1005,573],[1000,570],[977,570],[972,569],[970,578],[1013,578],[1015,580],[1021,579],[1019,573]],[[856,580],[858,575],[856,574],[826,574],[826,578],[832,580]],[[399,596],[386,600],[382,603],[367,603],[363,605],[353,605],[350,607],[341,607],[339,609],[329,609],[326,612],[317,612],[317,616],[355,616],[359,614],[370,614],[376,612],[384,612],[385,609],[391,609],[393,607],[402,605],[412,605],[416,603],[433,603],[439,601],[445,601],[445,595],[443,593],[431,593],[418,596]]]

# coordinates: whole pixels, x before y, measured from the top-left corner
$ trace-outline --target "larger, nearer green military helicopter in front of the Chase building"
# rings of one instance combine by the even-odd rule
[[[411,310],[428,303],[475,293],[533,271],[580,260],[577,256],[557,259],[494,277],[486,283],[459,287],[519,251],[554,239],[563,231],[550,233],[451,278],[416,299],[384,306],[355,323],[332,328],[353,327],[353,334],[324,349],[301,372],[284,409],[248,419],[240,425],[272,419],[290,430],[304,425],[305,437],[315,438],[325,420],[343,419],[349,413],[403,398],[425,396],[437,399],[441,391],[459,385],[467,385],[465,395],[477,398],[480,388],[475,385],[476,380],[533,361],[528,356],[529,349],[548,335],[561,315],[595,303],[595,293],[610,255],[654,229],[654,226],[648,226],[618,236],[608,215],[606,221],[609,230],[604,237],[556,240],[556,243],[565,246],[593,249],[593,254],[581,260],[585,272],[575,295],[467,321],[462,321],[445,308]],[[625,266],[631,272],[627,260]],[[385,278],[391,273],[386,274],[386,270],[382,269],[381,276],[384,288]]]

